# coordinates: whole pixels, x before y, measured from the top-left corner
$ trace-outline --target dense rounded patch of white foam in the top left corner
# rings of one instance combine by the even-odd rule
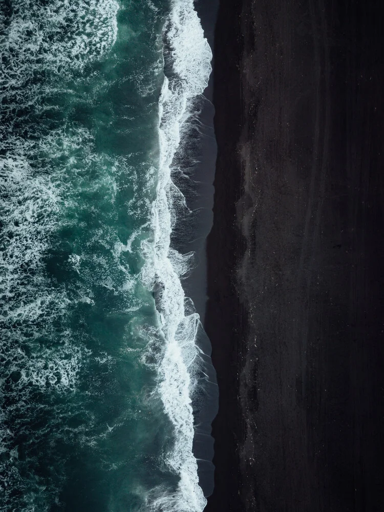
[[[23,88],[34,73],[46,71],[72,75],[86,63],[99,59],[117,37],[116,0],[56,0],[46,5],[35,0],[15,0],[9,24],[0,32],[3,55],[0,87]],[[1,16],[1,14],[0,14]]]

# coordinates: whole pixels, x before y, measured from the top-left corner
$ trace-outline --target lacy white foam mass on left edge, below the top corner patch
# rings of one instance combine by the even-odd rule
[[[0,159],[0,390],[7,403],[4,409],[0,404],[0,452],[11,455],[0,463],[0,510],[6,510],[12,492],[24,485],[10,447],[16,433],[28,427],[18,424],[15,415],[25,414],[32,421],[41,412],[31,399],[36,390],[52,387],[71,393],[87,356],[68,329],[57,328],[70,299],[45,271],[44,258],[60,220],[62,186],[44,168],[40,174],[31,165],[39,148],[17,138],[7,142],[13,152]]]

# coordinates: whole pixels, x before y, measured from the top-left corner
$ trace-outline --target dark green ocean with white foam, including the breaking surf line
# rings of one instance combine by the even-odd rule
[[[1,0],[0,49],[0,511],[200,512],[193,0]]]

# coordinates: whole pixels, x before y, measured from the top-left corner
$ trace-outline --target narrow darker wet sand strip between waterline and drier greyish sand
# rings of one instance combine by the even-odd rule
[[[239,497],[238,440],[242,418],[237,400],[239,353],[243,343],[241,308],[234,272],[242,255],[236,225],[236,202],[241,195],[241,163],[237,142],[241,134],[241,89],[238,64],[242,54],[240,13],[242,2],[219,3],[214,41],[215,135],[218,155],[215,173],[214,224],[207,238],[208,301],[204,327],[212,345],[217,372],[219,411],[212,422],[215,488],[206,512],[242,512]],[[228,101],[230,98],[230,101]]]

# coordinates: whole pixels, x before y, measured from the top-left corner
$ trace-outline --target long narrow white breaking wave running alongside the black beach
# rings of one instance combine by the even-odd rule
[[[196,141],[192,133],[191,137],[188,135],[195,127],[197,98],[209,79],[211,51],[203,37],[193,0],[183,0],[170,7],[162,37],[164,79],[158,102],[159,173],[151,209],[154,250],[143,275],[148,276],[147,283],[154,283],[158,326],[164,341],[158,391],[173,429],[173,444],[164,463],[175,473],[177,487],[167,495],[160,492],[152,508],[182,506],[197,511],[204,508],[206,499],[201,471],[198,471],[200,461],[194,449],[198,444],[196,431],[210,433],[208,401],[215,398],[212,391],[215,383],[210,379],[214,369],[209,355],[200,354],[196,342],[199,317],[183,286],[191,256],[184,255],[183,245],[193,225],[185,197],[192,188],[188,186],[188,174]],[[191,34],[193,47],[188,43]],[[185,191],[184,181],[187,181]]]

